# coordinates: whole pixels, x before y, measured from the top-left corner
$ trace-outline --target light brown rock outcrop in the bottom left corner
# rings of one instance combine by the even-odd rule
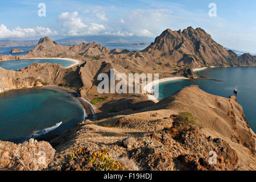
[[[29,142],[14,144],[0,141],[0,170],[38,171],[47,168],[55,154],[48,142]]]

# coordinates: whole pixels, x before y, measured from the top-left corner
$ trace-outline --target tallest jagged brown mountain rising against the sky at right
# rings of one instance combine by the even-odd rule
[[[247,57],[237,56],[233,51],[227,51],[220,44],[214,42],[203,29],[196,28],[194,30],[192,27],[183,31],[167,29],[142,52],[153,56],[163,56],[178,64],[191,65],[193,68],[256,64],[255,56],[249,54]]]

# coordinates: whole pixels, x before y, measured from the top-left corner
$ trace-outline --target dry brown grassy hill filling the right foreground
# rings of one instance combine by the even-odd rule
[[[80,147],[88,154],[108,150],[127,170],[256,169],[255,133],[234,96],[189,86],[134,112],[88,120],[53,139],[56,155],[48,169],[89,169],[81,159],[68,158]],[[217,154],[216,165],[209,164],[211,151]]]

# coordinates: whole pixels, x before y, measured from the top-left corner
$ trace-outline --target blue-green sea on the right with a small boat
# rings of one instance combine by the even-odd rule
[[[200,89],[216,96],[229,97],[237,87],[238,102],[242,105],[251,129],[256,132],[256,67],[210,68],[197,72],[209,78],[222,80],[179,80],[159,84],[159,99],[181,90],[185,86],[199,85]]]

